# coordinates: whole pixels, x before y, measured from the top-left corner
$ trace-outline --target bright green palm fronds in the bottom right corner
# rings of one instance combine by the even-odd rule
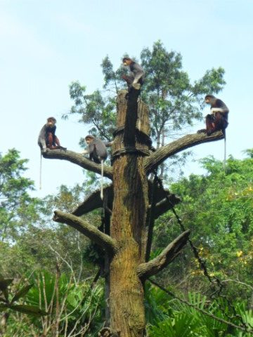
[[[161,303],[161,294],[158,296],[155,291],[152,291],[153,303],[157,308],[156,303]],[[164,302],[166,297],[163,293]],[[185,300],[185,299],[183,299]],[[167,310],[165,305],[160,306],[162,312],[158,312],[156,319],[148,324],[148,333],[150,337],[157,336],[175,336],[175,337],[219,337],[219,336],[240,336],[249,337],[250,333],[235,329],[235,327],[221,322],[219,319],[232,324],[242,326],[242,322],[235,317],[233,310],[228,307],[228,304],[221,303],[222,300],[207,301],[206,296],[201,296],[200,293],[188,293],[186,299],[188,304],[180,300],[167,300]],[[247,329],[252,324],[253,314],[252,310],[245,308],[245,303],[234,303],[235,313],[242,317],[243,323],[246,324]],[[223,310],[221,310],[221,305]],[[161,315],[162,314],[162,315]],[[207,315],[208,314],[208,315]],[[215,318],[216,317],[216,318]],[[228,319],[231,317],[231,319]],[[151,323],[151,324],[150,324]]]

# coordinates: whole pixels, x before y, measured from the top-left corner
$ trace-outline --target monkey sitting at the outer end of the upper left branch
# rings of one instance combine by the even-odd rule
[[[54,117],[48,117],[46,124],[41,128],[38,145],[41,148],[41,153],[45,153],[47,148],[50,150],[67,149],[67,147],[60,146],[60,140],[56,136],[56,119]]]

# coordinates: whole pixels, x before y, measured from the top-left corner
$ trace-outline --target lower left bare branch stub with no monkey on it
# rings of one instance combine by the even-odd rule
[[[82,218],[62,211],[55,211],[54,213],[53,220],[56,221],[56,223],[66,223],[86,237],[89,237],[89,239],[96,242],[96,244],[108,251],[108,253],[115,253],[115,251],[117,251],[117,243],[114,239],[109,235],[100,232],[98,228],[90,225]]]

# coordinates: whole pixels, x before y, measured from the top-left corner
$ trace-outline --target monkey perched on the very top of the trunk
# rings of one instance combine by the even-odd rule
[[[131,58],[123,58],[123,65],[129,66],[130,74],[129,76],[123,75],[122,79],[126,81],[126,84],[129,88],[129,92],[132,88],[140,90],[141,86],[144,83],[145,73],[141,65],[138,65],[137,62],[134,62]]]

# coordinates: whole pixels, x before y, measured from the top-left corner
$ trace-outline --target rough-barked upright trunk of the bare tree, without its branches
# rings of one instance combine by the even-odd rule
[[[132,130],[135,130],[137,102],[129,95],[129,104],[126,107],[124,96],[124,91],[118,96],[117,126],[124,125],[126,120],[125,135],[119,134],[115,138],[113,151],[129,145],[138,146],[129,136]],[[134,116],[126,117],[127,114],[134,114]],[[110,264],[111,328],[120,331],[121,337],[143,337],[145,330],[143,285],[137,275],[137,267],[143,262],[145,255],[148,180],[141,155],[126,153],[115,159],[113,186],[114,201],[110,234],[119,244],[119,250]]]

